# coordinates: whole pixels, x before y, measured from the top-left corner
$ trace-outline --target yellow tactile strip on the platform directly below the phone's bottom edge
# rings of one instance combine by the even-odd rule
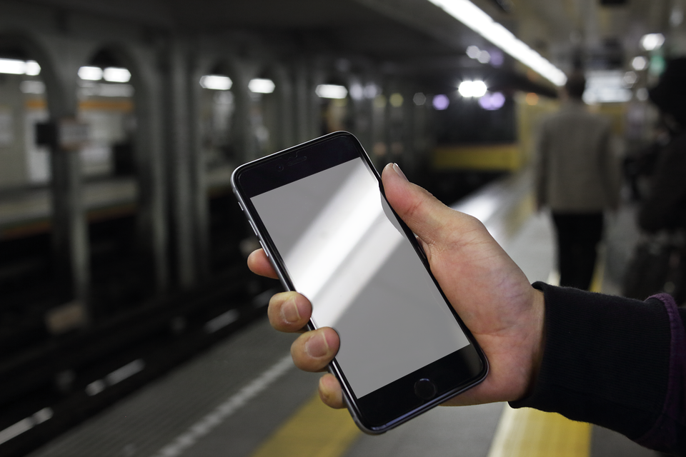
[[[339,457],[360,433],[347,410],[329,408],[316,395],[252,457]]]

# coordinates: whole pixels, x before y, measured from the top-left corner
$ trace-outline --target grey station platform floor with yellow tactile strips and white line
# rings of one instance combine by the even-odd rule
[[[555,283],[550,217],[534,211],[530,176],[497,181],[454,206],[481,219],[530,281]],[[617,292],[617,265],[637,232],[632,210],[609,219],[594,288]],[[294,368],[293,336],[256,321],[39,448],[31,457],[647,457],[607,429],[505,403],[434,408],[382,436],[317,397],[319,375]]]

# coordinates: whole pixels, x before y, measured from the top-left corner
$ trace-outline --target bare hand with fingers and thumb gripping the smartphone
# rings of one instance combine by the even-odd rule
[[[389,203],[417,234],[432,273],[489,360],[486,379],[446,404],[525,397],[542,358],[543,293],[532,288],[477,219],[449,209],[409,183],[397,165],[387,165],[382,180]],[[276,277],[261,249],[249,256],[248,266],[254,273]],[[311,315],[312,305],[298,293],[277,293],[269,301],[269,321],[279,331],[302,331]],[[324,371],[338,348],[337,333],[326,327],[304,332],[291,353],[298,368]],[[319,381],[319,396],[333,408],[344,406],[341,387],[331,374]]]

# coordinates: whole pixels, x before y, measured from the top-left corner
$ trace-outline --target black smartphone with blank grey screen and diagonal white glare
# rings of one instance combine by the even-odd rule
[[[485,378],[483,351],[352,134],[239,166],[232,186],[284,288],[312,302],[309,328],[338,332],[329,371],[362,431],[383,433]]]

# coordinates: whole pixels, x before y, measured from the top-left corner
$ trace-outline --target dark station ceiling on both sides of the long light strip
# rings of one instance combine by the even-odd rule
[[[622,66],[640,36],[665,31],[672,0],[472,0],[568,71]],[[179,31],[257,29],[292,33],[309,49],[364,54],[394,71],[454,72],[479,66],[464,51],[489,44],[428,0],[24,0]],[[609,3],[609,4],[607,4]]]

